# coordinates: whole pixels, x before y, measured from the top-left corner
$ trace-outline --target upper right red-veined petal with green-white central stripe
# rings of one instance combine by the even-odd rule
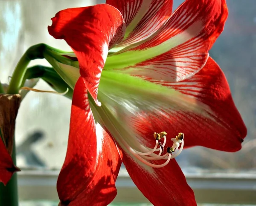
[[[105,68],[169,82],[189,78],[206,63],[226,19],[224,0],[186,0],[151,37],[108,57]]]

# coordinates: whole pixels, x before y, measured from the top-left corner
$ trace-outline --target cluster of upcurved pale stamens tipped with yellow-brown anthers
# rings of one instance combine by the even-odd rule
[[[172,145],[166,148],[165,153],[166,134],[166,132],[154,132],[153,137],[156,143],[153,149],[144,146],[140,147],[140,149],[142,149],[143,152],[139,152],[135,149],[132,149],[131,147],[127,149],[132,154],[134,154],[134,157],[136,157],[137,160],[140,160],[140,162],[144,163],[147,166],[151,166],[153,168],[164,167],[170,162],[171,159],[177,157],[181,153],[184,146],[184,134],[180,132],[175,138],[171,138]],[[162,164],[154,164],[150,162],[155,162],[156,160],[166,161]]]

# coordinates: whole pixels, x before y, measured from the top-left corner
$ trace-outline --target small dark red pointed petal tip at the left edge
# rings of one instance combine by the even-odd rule
[[[0,182],[6,185],[11,179],[14,172],[20,171],[13,162],[8,153],[2,138],[0,137]]]

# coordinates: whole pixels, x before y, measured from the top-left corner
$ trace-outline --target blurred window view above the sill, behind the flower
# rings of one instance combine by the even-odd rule
[[[174,0],[174,9],[183,0]],[[21,55],[37,43],[70,51],[64,40],[48,34],[51,18],[61,9],[104,3],[102,0],[0,0],[0,80],[8,83]],[[186,174],[256,173],[256,1],[227,0],[225,29],[210,51],[221,66],[234,102],[247,126],[241,151],[227,153],[195,147],[177,158]],[[36,64],[48,65],[45,60]],[[36,89],[51,90],[43,81]],[[16,121],[17,166],[59,170],[67,149],[71,101],[61,95],[29,92]],[[24,203],[24,206],[26,204]]]

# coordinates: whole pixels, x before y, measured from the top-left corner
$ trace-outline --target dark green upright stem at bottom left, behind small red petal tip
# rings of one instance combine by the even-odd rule
[[[16,149],[13,144],[12,160],[16,165]],[[17,173],[12,175],[12,179],[6,186],[0,183],[0,206],[18,206]]]

